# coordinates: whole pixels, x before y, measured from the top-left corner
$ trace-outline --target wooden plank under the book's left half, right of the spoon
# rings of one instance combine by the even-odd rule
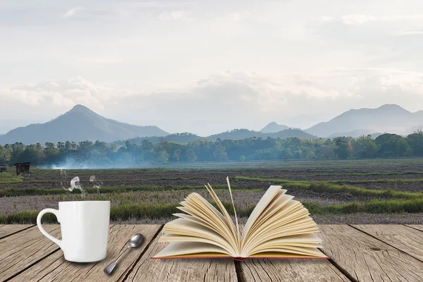
[[[150,259],[167,243],[156,238],[125,281],[238,281],[233,259]]]

